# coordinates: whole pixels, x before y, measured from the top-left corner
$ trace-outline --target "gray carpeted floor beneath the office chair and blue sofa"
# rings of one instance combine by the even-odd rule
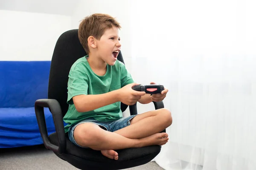
[[[43,145],[0,148],[0,170],[78,170]],[[154,161],[126,170],[163,170]]]

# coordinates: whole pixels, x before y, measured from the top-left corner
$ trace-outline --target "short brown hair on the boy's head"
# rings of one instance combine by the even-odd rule
[[[100,40],[105,30],[116,26],[121,28],[120,24],[108,14],[92,14],[85,17],[78,29],[78,37],[81,45],[88,54],[88,37],[93,36],[97,40]]]

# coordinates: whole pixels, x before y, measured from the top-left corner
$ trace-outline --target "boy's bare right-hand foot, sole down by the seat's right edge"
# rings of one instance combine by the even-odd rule
[[[145,138],[141,138],[140,147],[149,146],[149,145],[163,145],[166,144],[169,140],[167,133],[155,133],[151,136],[147,136]]]

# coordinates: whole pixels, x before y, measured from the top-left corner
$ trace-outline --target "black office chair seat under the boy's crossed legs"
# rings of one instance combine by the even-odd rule
[[[49,135],[49,140],[52,144],[58,145],[56,133]],[[108,170],[118,170],[139,166],[154,159],[161,150],[161,146],[159,145],[116,150],[119,155],[119,159],[116,161],[103,156],[100,151],[76,146],[70,142],[68,136],[66,136],[66,142],[66,153],[61,155],[58,153],[55,154],[61,159],[73,164],[73,166],[83,170],[106,170],[106,167],[108,167]],[[83,164],[81,164],[81,162]]]

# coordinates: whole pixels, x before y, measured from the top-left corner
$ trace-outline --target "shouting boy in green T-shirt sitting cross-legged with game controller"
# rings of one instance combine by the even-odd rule
[[[107,14],[92,14],[80,23],[79,40],[88,55],[70,69],[69,109],[63,118],[68,123],[65,133],[69,133],[71,142],[101,150],[104,156],[115,160],[118,153],[114,150],[166,144],[168,134],[159,132],[172,124],[171,113],[165,108],[122,117],[120,102],[159,102],[168,89],[152,96],[132,90],[138,84],[117,60],[120,28]]]

